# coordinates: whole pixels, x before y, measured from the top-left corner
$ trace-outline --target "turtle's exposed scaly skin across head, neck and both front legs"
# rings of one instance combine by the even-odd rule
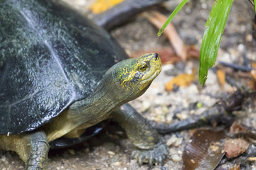
[[[132,110],[131,106],[117,109],[144,94],[159,72],[161,72],[161,61],[157,54],[146,54],[138,59],[114,64],[90,97],[73,103],[70,108],[41,128],[40,133],[46,135],[43,135],[39,143],[38,137],[35,137],[38,132],[0,135],[0,149],[17,152],[23,161],[28,163],[27,169],[46,169],[48,142],[63,136],[77,137],[84,131],[83,129],[113,118],[126,130],[129,139],[136,147],[133,156],[139,164],[143,162],[162,164],[168,151],[161,143],[157,132],[139,113]],[[28,141],[30,145],[27,145]],[[24,152],[18,150],[27,147],[30,149]],[[35,166],[31,166],[33,162],[36,162]]]

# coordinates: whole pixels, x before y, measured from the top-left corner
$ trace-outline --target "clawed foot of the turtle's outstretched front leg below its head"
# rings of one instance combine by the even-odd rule
[[[163,165],[164,159],[168,154],[166,145],[163,142],[159,142],[152,149],[134,149],[132,158],[137,159],[140,166],[143,163],[149,163],[151,166],[154,164]]]

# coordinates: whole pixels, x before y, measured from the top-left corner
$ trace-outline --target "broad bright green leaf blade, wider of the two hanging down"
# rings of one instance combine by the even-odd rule
[[[215,0],[210,11],[200,50],[199,81],[202,85],[206,83],[208,69],[215,64],[220,40],[233,1]]]

